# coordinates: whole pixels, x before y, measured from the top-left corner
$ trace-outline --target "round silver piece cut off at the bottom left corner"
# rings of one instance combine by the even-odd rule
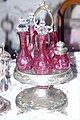
[[[0,96],[0,115],[7,113],[11,108],[11,103]]]

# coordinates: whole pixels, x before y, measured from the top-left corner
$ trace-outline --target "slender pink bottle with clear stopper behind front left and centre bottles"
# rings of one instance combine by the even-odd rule
[[[28,31],[29,31],[29,44],[28,44],[28,51],[33,59],[38,57],[38,47],[35,43],[35,35],[36,31],[34,29],[34,14],[30,13],[28,21]]]

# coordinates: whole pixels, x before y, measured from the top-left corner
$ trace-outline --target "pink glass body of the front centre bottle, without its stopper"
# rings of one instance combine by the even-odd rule
[[[39,56],[34,64],[34,71],[36,74],[45,75],[52,71],[51,61],[46,52],[46,36],[37,35],[39,39]]]

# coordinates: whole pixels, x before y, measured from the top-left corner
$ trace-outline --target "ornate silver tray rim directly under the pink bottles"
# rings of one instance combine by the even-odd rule
[[[56,85],[70,81],[73,78],[71,67],[65,71],[53,71],[49,75],[35,75],[32,70],[21,72],[15,68],[13,76],[23,84]]]

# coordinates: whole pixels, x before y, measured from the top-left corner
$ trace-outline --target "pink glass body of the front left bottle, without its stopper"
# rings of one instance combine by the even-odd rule
[[[26,46],[27,32],[17,32],[20,39],[20,52],[16,58],[16,67],[20,71],[30,70],[32,68],[32,57],[30,56]]]

